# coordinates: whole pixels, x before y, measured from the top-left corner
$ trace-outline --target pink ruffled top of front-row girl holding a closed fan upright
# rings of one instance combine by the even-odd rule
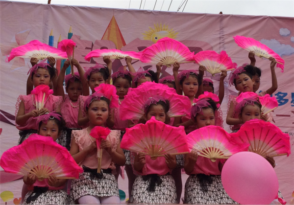
[[[112,145],[112,149],[116,150],[119,144],[121,131],[119,130],[111,130],[110,134],[107,136],[106,140],[110,141]],[[75,140],[76,144],[79,147],[79,150],[83,150],[84,148],[88,147],[92,142],[90,138],[87,128],[83,130],[73,130],[72,132],[72,141]],[[84,160],[82,160],[79,164],[80,167],[85,165],[91,169],[97,169],[98,167],[98,159],[97,159],[97,152],[94,151],[88,154]],[[109,153],[103,149],[102,151],[102,160],[101,160],[101,169],[112,169],[115,170],[116,166],[114,161],[112,161]]]

